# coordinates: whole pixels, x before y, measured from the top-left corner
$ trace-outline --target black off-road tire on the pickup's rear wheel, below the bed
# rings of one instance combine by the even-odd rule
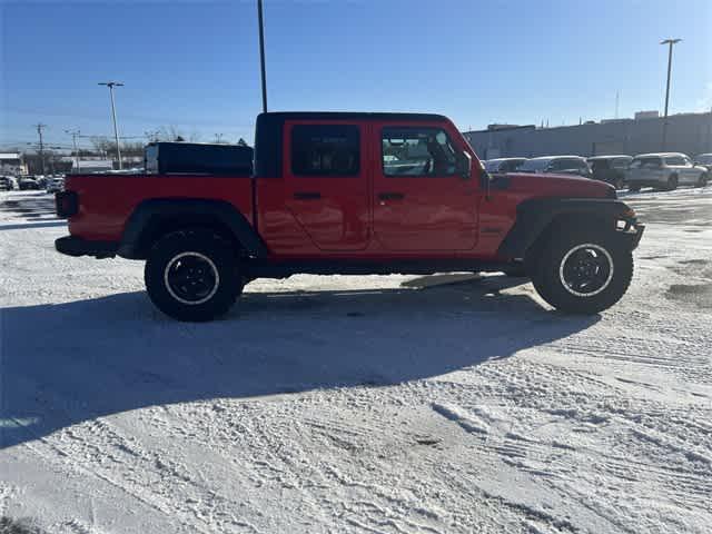
[[[197,259],[211,275],[204,299],[182,299],[169,281],[170,268],[181,258]],[[239,264],[231,244],[207,229],[174,231],[151,247],[144,270],[146,290],[158,309],[185,322],[207,322],[226,314],[243,290]]]

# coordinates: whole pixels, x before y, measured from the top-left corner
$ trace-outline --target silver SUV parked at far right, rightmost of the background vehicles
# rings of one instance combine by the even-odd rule
[[[680,152],[640,154],[633,158],[625,174],[631,191],[640,191],[641,187],[669,191],[683,185],[704,187],[708,179],[706,167],[693,165],[688,156]]]

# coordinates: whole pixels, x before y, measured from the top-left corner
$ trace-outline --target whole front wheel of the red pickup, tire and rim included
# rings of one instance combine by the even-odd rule
[[[617,303],[633,277],[633,254],[615,235],[558,234],[544,246],[532,281],[544,300],[572,314]]]

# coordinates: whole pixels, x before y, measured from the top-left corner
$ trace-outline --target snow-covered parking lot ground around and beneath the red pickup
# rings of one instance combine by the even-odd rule
[[[712,524],[712,188],[629,195],[624,299],[257,280],[180,324],[0,192],[0,515],[58,533],[682,533]]]

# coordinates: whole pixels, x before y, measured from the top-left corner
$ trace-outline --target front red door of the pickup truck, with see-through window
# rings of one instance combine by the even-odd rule
[[[451,125],[373,125],[373,227],[387,250],[469,250],[477,243],[476,175],[457,175]],[[439,139],[439,141],[438,141]],[[382,151],[382,154],[378,154]]]

